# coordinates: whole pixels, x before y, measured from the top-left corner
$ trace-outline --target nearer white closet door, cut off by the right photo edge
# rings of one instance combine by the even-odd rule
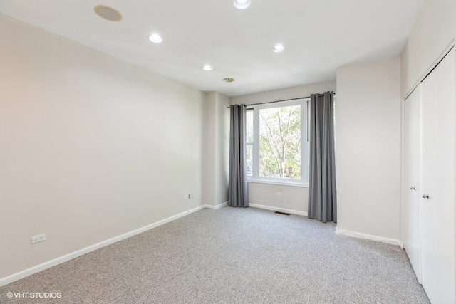
[[[432,304],[456,300],[454,90],[453,50],[422,83],[422,275]]]

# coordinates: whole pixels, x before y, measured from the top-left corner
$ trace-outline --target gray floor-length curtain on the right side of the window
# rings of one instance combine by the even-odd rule
[[[337,221],[334,93],[311,95],[309,219]]]

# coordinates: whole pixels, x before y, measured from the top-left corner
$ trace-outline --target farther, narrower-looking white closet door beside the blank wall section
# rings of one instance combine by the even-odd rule
[[[421,283],[420,85],[404,100],[404,248]]]

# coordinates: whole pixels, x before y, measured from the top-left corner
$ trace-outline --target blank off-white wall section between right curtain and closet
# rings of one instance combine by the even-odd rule
[[[337,70],[338,230],[401,239],[400,58]]]

